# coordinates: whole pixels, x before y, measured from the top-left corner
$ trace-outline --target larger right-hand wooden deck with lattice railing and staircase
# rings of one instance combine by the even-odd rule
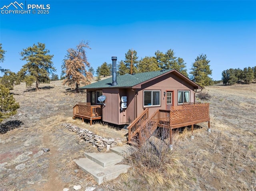
[[[172,106],[170,110],[157,110],[151,117],[148,109],[138,116],[128,126],[128,143],[142,144],[154,133],[157,127],[170,130],[170,144],[172,144],[172,129],[192,126],[194,124],[208,122],[210,128],[209,103],[186,103],[180,106]]]

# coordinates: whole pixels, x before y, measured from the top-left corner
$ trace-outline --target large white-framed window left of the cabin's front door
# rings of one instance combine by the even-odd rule
[[[144,91],[144,107],[160,106],[160,91]]]

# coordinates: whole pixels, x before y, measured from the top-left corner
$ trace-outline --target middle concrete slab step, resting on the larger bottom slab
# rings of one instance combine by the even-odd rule
[[[102,167],[108,167],[111,165],[115,165],[117,163],[122,162],[124,159],[122,156],[119,156],[117,154],[114,154],[112,152],[110,153],[85,153],[84,154],[86,158],[94,161],[98,165],[101,165]]]

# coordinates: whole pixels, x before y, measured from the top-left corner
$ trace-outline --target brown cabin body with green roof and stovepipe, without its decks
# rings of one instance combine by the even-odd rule
[[[112,62],[112,78],[80,88],[87,90],[91,106],[101,105],[104,122],[130,124],[146,108],[152,115],[157,109],[170,110],[171,106],[194,102],[195,90],[202,89],[174,69],[116,76],[116,57]],[[104,104],[98,100],[101,95],[106,96]],[[126,98],[126,108],[122,108],[122,98]]]

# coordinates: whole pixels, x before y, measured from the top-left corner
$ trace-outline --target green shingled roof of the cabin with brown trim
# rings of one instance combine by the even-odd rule
[[[134,75],[117,75],[116,86],[111,86],[112,84],[112,77],[86,85],[84,87],[80,87],[79,89],[109,89],[109,88],[132,88],[136,85],[146,83],[147,81],[154,80],[157,77],[160,77],[162,75],[166,75],[168,73],[174,72],[177,75],[180,75],[184,78],[185,81],[190,82],[195,89],[202,89],[199,85],[188,79],[186,76],[182,75],[177,70],[160,70],[160,71],[152,71],[152,72],[144,72],[144,73],[136,73]]]

